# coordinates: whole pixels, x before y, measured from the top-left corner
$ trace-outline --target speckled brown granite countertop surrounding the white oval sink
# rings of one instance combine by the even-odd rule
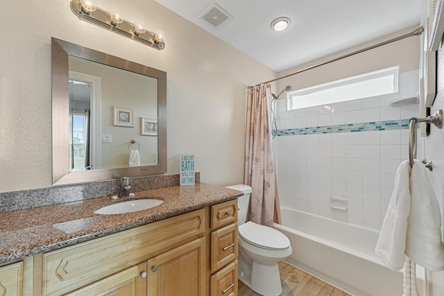
[[[135,192],[135,198],[109,197],[0,213],[0,265],[145,225],[241,196],[240,191],[197,183]],[[98,215],[114,202],[159,198],[157,207],[128,214]]]

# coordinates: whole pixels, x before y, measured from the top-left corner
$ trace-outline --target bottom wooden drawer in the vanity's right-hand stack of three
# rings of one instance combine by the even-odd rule
[[[211,296],[237,296],[237,260],[211,277]]]

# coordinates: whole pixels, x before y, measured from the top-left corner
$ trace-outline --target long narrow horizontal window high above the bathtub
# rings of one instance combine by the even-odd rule
[[[352,76],[287,93],[287,110],[398,92],[399,67]]]

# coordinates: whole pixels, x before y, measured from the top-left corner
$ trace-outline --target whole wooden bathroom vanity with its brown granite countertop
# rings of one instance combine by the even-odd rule
[[[164,202],[128,214],[94,214],[108,197],[1,213],[0,295],[237,295],[241,194],[199,183],[137,192]]]

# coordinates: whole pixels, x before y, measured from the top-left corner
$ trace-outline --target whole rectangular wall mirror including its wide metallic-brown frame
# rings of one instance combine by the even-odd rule
[[[52,39],[53,184],[167,171],[167,73]]]

